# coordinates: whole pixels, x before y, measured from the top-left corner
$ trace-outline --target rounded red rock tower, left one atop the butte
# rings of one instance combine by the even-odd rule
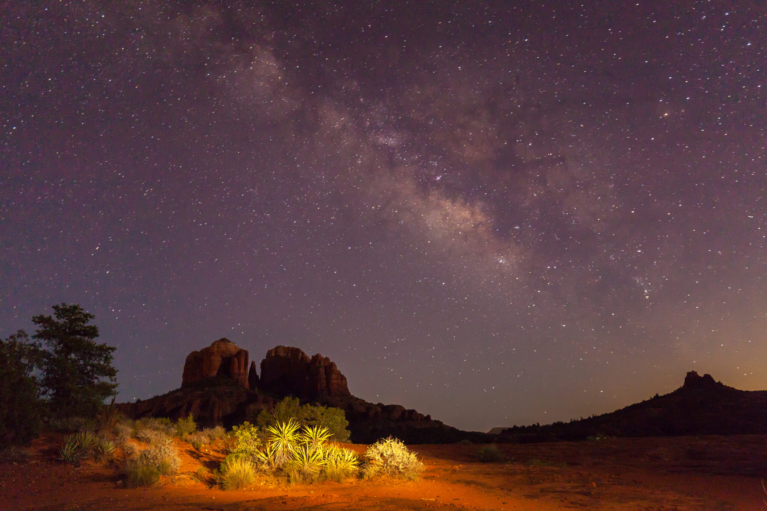
[[[249,388],[248,350],[229,339],[214,341],[207,348],[189,353],[184,364],[181,386],[188,387],[203,378],[225,376]]]

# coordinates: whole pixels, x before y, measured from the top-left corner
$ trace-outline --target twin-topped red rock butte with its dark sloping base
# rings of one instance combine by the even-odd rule
[[[181,418],[194,414],[198,424],[232,426],[255,421],[286,396],[302,403],[341,408],[349,421],[351,440],[371,443],[396,436],[409,444],[485,441],[486,434],[460,431],[430,415],[401,405],[370,403],[351,395],[346,376],[335,362],[319,353],[311,358],[299,348],[268,350],[258,375],[255,360],[229,339],[219,339],[186,357],[181,388],[146,401],[125,403],[120,411],[130,418]]]

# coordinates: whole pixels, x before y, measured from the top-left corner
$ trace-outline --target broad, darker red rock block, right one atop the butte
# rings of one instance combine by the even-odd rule
[[[261,362],[259,388],[302,399],[351,396],[346,377],[320,354],[309,359],[301,349],[275,346]]]

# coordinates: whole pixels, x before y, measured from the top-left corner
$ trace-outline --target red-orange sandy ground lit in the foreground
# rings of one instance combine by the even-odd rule
[[[508,458],[479,463],[476,445],[411,446],[426,464],[415,482],[288,486],[257,480],[223,491],[196,477],[222,454],[179,442],[183,465],[159,486],[127,489],[115,464],[56,460],[61,434],[44,434],[26,460],[0,464],[0,509],[767,509],[767,436],[615,439],[500,445]],[[366,446],[354,445],[364,452]]]

